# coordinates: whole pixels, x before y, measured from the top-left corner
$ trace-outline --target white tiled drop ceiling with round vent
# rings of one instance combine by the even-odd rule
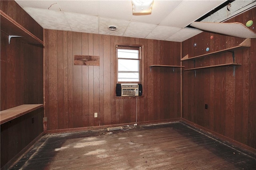
[[[42,28],[183,42],[188,28],[225,0],[154,0],[152,14],[132,15],[131,0],[15,0]],[[110,31],[108,26],[118,30]]]

